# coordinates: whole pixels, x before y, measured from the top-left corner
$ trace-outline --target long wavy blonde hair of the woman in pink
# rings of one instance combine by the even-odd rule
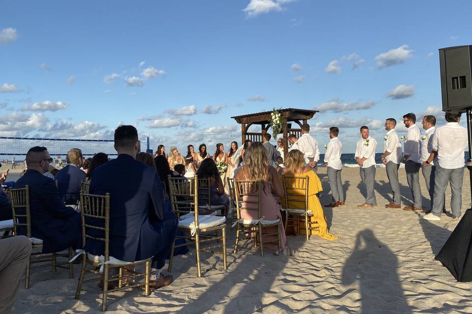
[[[249,180],[267,180],[268,162],[266,148],[261,142],[253,142],[244,153],[244,168]]]

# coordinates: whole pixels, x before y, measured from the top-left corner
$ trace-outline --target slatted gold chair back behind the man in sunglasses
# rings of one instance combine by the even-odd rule
[[[9,192],[13,214],[13,228],[21,235],[19,227],[26,227],[26,236],[31,237],[31,212],[29,208],[29,186],[13,188]]]

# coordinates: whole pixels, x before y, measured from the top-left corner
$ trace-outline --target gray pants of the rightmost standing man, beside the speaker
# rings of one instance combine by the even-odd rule
[[[436,166],[434,178],[434,199],[432,213],[441,217],[444,207],[444,192],[447,182],[451,184],[451,209],[454,217],[461,216],[462,208],[462,180],[464,179],[464,167],[456,169],[441,168]]]

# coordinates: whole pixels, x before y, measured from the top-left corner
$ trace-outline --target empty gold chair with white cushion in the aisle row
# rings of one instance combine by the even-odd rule
[[[178,245],[175,245],[175,242],[172,244],[168,270],[171,271],[172,269],[174,249],[190,244],[195,244],[198,277],[202,277],[200,252],[223,254],[223,267],[226,270],[226,218],[198,214],[198,184],[200,180],[197,176],[188,180],[169,176],[168,182],[171,208],[176,213],[177,218],[179,218],[178,230],[184,233],[182,236],[177,235],[176,240],[184,238],[188,241]],[[219,230],[221,230],[221,236],[218,236]],[[202,243],[213,240],[222,240],[222,243],[213,246],[201,246]],[[212,250],[221,246],[223,251]]]

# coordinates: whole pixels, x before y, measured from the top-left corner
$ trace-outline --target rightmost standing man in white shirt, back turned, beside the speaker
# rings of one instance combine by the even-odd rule
[[[461,127],[460,113],[446,112],[447,124],[434,131],[431,136],[432,152],[437,154],[434,178],[433,209],[423,217],[428,220],[441,220],[444,207],[444,192],[447,183],[451,184],[451,209],[454,219],[461,217],[462,181],[464,179],[464,151],[468,146],[467,129]],[[431,163],[430,155],[427,162]]]

